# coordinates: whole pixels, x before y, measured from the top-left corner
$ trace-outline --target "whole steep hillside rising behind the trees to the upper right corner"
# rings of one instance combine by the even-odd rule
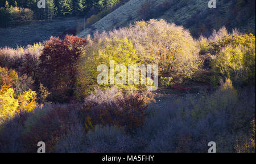
[[[142,19],[164,19],[183,25],[195,37],[200,34],[209,36],[213,29],[224,25],[229,31],[237,28],[241,32],[250,30],[255,33],[255,1],[217,1],[216,8],[208,8],[208,1],[205,0],[131,0],[78,36],[128,27],[130,23]]]

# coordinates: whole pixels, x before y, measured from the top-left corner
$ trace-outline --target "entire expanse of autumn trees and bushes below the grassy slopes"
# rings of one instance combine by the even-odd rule
[[[110,60],[158,64],[160,92],[179,94],[155,103],[151,83],[98,84],[97,66]],[[0,75],[0,152],[36,152],[39,141],[47,152],[207,152],[209,141],[217,152],[255,152],[251,33],[194,38],[162,19],[136,21],[2,48]]]

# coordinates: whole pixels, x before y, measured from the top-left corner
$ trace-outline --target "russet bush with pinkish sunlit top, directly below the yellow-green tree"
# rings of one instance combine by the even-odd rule
[[[104,92],[98,90],[96,94],[92,94],[85,100],[80,115],[86,119],[82,122],[86,130],[93,128],[96,124],[104,126],[109,124],[124,127],[126,131],[133,132],[143,124],[147,104],[152,101],[152,98],[150,101],[148,99],[150,95],[136,92],[122,93],[116,88]]]

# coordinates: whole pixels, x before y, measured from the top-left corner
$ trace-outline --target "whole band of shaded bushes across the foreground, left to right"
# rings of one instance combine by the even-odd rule
[[[255,88],[237,92],[227,80],[213,94],[191,94],[148,109],[147,119],[138,126],[133,126],[138,105],[114,90],[97,91],[84,106],[46,105],[15,117],[0,133],[0,150],[36,152],[36,143],[42,140],[47,152],[207,152],[209,141],[217,143],[217,152],[253,150],[250,123],[255,116]],[[100,110],[119,98],[126,98],[133,108],[126,113],[128,119],[121,108]],[[6,137],[14,131],[19,134],[12,135],[11,148]]]

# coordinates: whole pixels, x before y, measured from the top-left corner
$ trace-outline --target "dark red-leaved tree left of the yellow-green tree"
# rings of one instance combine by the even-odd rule
[[[77,59],[82,53],[86,40],[66,36],[64,40],[51,37],[40,55],[40,81],[49,88],[52,99],[67,101],[72,96],[76,83]]]

